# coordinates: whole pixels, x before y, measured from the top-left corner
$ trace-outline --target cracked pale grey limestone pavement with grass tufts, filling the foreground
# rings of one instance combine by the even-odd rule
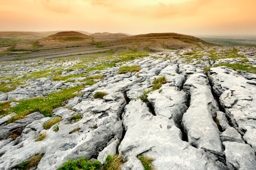
[[[17,169],[38,154],[38,170],[82,157],[103,163],[108,154],[122,156],[123,170],[143,170],[140,154],[158,170],[256,169],[255,47],[10,61],[0,68],[0,169]],[[97,92],[107,95],[95,99]]]

